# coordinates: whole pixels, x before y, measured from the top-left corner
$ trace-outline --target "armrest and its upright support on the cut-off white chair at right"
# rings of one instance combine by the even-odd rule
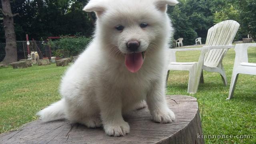
[[[235,62],[234,65],[238,65],[241,62],[248,62],[248,48],[249,47],[256,47],[256,43],[252,44],[236,44],[235,47],[235,52],[236,52],[236,57],[235,57]]]

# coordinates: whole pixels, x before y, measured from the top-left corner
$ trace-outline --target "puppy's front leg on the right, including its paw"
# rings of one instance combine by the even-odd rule
[[[166,104],[164,82],[155,82],[146,98],[148,109],[155,122],[169,123],[175,119],[175,115]]]

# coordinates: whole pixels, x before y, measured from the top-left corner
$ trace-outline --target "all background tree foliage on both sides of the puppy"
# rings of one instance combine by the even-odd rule
[[[170,6],[174,39],[184,38],[184,45],[194,44],[197,37],[206,41],[208,29],[223,20],[236,20],[240,30],[235,40],[250,34],[256,40],[255,0],[179,0]],[[11,3],[17,40],[46,39],[48,36],[75,35],[92,36],[95,15],[90,20],[82,8],[88,0],[15,0]],[[3,25],[0,25],[0,41],[5,42]]]

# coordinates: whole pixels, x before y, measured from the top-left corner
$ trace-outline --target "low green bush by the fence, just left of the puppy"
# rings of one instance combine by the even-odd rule
[[[51,47],[54,56],[63,58],[78,56],[90,43],[90,38],[85,36],[63,37],[59,40],[50,40],[46,44]]]

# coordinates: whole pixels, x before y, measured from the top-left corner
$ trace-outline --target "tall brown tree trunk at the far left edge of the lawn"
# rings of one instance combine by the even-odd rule
[[[17,14],[12,14],[10,0],[1,0],[1,2],[2,9],[0,11],[4,18],[4,35],[6,40],[5,57],[1,64],[10,64],[17,62],[16,34],[13,22],[13,17]]]

